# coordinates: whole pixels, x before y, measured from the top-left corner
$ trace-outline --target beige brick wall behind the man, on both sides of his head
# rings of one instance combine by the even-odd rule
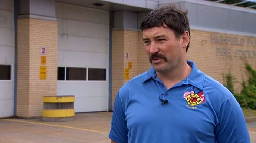
[[[232,45],[214,43],[211,41],[212,35],[229,36],[232,38],[244,38],[244,45]],[[113,47],[112,47],[112,108],[114,105],[115,95],[118,89],[128,80],[124,80],[124,68],[128,67],[128,62],[132,62],[130,70],[130,79],[144,71],[147,71],[151,64],[144,50],[141,31],[118,30],[113,31]],[[248,79],[248,73],[244,69],[244,62],[247,61],[256,69],[256,56],[254,58],[241,58],[234,56],[234,50],[249,50],[256,52],[255,46],[248,46],[247,41],[251,39],[256,41],[255,37],[222,34],[219,32],[209,32],[197,29],[191,29],[190,48],[187,52],[187,59],[193,60],[198,69],[223,83],[223,73],[231,71],[236,77],[234,88],[240,91],[243,79]],[[137,38],[137,39],[136,39]],[[220,56],[216,53],[216,48],[230,49],[230,56]],[[130,53],[130,59],[125,59],[124,54]],[[122,64],[123,63],[123,64]],[[136,72],[137,68],[137,72]]]

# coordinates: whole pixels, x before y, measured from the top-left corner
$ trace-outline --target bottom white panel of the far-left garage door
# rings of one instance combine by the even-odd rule
[[[0,100],[0,117],[13,116],[13,100]]]

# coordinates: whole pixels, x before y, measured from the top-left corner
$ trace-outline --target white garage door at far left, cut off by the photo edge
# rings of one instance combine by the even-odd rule
[[[0,0],[0,118],[13,116],[14,5]]]

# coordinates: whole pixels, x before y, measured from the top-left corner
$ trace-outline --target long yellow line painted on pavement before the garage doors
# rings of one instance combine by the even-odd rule
[[[31,124],[37,124],[37,125],[54,126],[54,127],[69,128],[69,129],[77,129],[77,130],[85,130],[85,131],[88,131],[88,132],[95,132],[95,133],[105,133],[105,134],[108,134],[108,132],[102,132],[102,131],[98,131],[98,130],[90,130],[90,129],[83,129],[83,128],[75,128],[75,127],[62,126],[62,125],[52,125],[52,124],[48,124],[48,123],[29,122],[29,121],[19,121],[19,120],[14,120],[14,119],[0,119],[0,120],[2,120],[2,121],[11,121],[11,122],[31,123]]]

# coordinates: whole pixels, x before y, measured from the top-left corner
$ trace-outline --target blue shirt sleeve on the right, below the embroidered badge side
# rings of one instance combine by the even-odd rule
[[[227,99],[217,114],[219,125],[216,128],[217,143],[250,143],[243,111],[234,99]]]

